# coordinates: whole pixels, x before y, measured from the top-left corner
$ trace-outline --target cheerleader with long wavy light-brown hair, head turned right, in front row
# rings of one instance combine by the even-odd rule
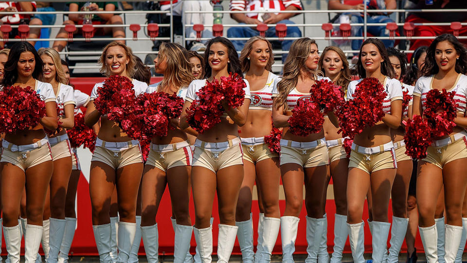
[[[286,209],[281,217],[282,262],[293,262],[305,182],[306,262],[317,262],[326,218],[323,198],[329,157],[323,129],[303,137],[293,135],[288,127],[291,110],[298,101],[310,98],[310,86],[323,77],[317,75],[318,45],[310,38],[299,38],[290,46],[284,75],[272,91],[274,126],[284,128],[281,139],[281,175]],[[329,78],[326,78],[329,80]],[[334,114],[331,113],[331,116]]]

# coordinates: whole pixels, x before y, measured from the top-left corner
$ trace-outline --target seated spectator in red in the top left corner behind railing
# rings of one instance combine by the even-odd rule
[[[36,2],[30,1],[1,1],[0,2],[0,11],[2,12],[12,12],[11,16],[0,15],[1,24],[10,24],[10,25],[19,25],[19,24],[29,24],[29,25],[42,25],[42,21],[38,18],[33,18],[32,15],[18,14],[16,12],[35,12],[36,11]],[[28,38],[39,38],[40,28],[31,28],[29,30]],[[19,38],[18,28],[13,28],[10,32],[10,38]],[[33,46],[36,41],[28,41]],[[4,42],[0,42],[0,48],[5,46]]]

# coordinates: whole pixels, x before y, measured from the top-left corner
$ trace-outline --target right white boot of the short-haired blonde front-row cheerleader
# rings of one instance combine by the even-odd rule
[[[130,251],[135,241],[136,223],[118,222],[118,258],[117,263],[128,263]]]

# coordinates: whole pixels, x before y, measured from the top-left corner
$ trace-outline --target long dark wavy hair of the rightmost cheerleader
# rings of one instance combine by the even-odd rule
[[[423,76],[430,76],[438,73],[439,67],[436,64],[436,59],[434,58],[436,45],[442,41],[449,41],[451,45],[454,46],[459,59],[456,59],[455,70],[457,73],[466,74],[467,72],[467,50],[466,47],[451,34],[443,34],[438,36],[431,42],[430,46],[427,49],[427,57],[425,58],[425,66],[422,69]]]

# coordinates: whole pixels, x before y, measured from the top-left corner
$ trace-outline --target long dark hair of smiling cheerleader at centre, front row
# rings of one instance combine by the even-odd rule
[[[221,43],[227,47],[227,55],[230,60],[230,63],[227,64],[227,71],[232,74],[236,73],[240,76],[243,75],[234,44],[232,44],[232,42],[227,38],[216,37],[209,40],[206,45],[206,51],[204,52],[204,78],[210,78],[213,74],[211,66],[209,65],[209,50],[211,49],[211,45],[214,43]]]

